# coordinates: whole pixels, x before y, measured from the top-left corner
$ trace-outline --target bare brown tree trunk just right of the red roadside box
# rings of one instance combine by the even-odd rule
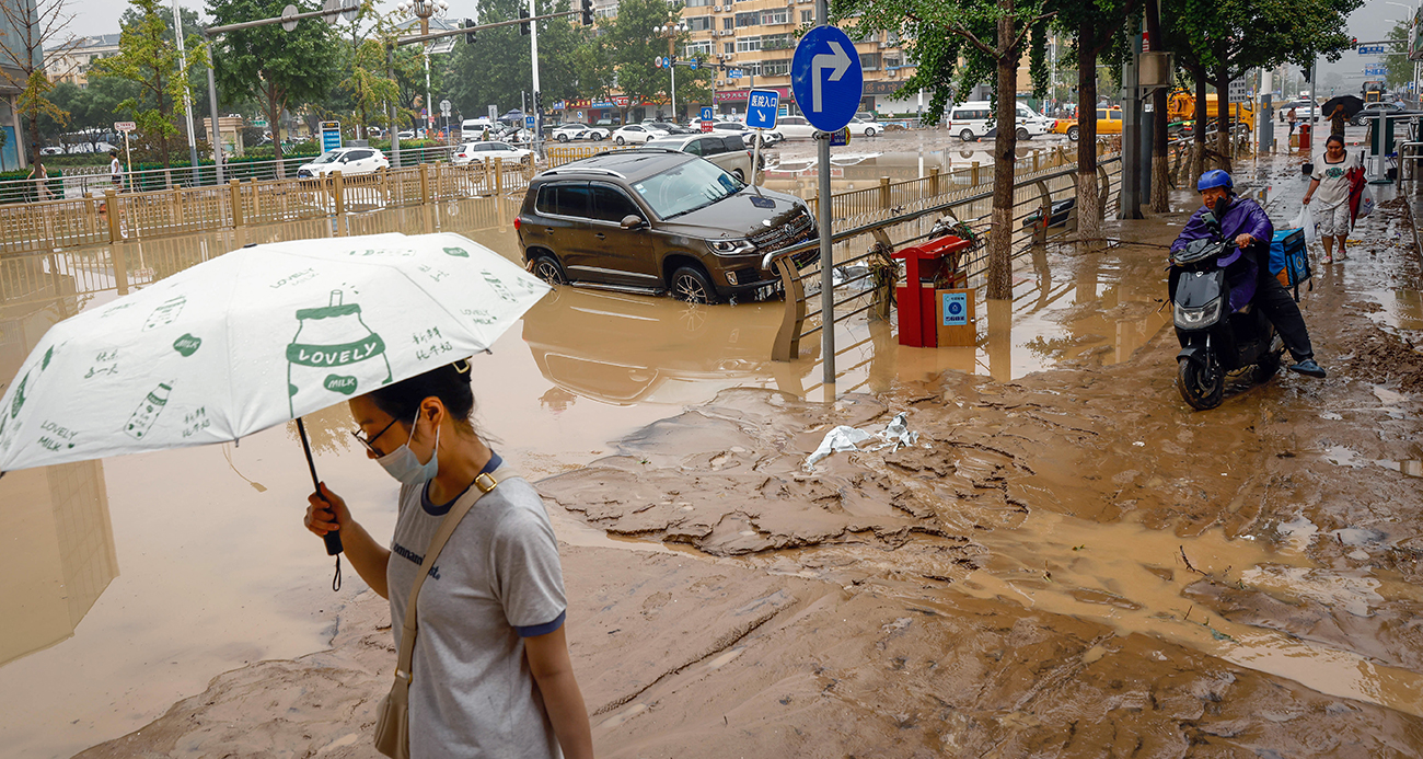
[[[988,296],[1013,298],[1013,171],[1017,148],[1017,48],[1013,0],[998,0],[998,112],[993,121],[993,232],[988,236]],[[822,171],[827,167],[821,167]]]

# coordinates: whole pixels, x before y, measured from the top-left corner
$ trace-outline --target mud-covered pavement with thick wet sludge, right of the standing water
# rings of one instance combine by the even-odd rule
[[[1281,164],[1254,179],[1276,219],[1302,189]],[[1416,756],[1423,281],[1400,206],[1360,234],[1305,296],[1323,382],[1192,413],[1170,329],[1126,356],[1083,333],[1029,376],[729,387],[542,480],[599,753]],[[803,466],[898,412],[916,446]],[[374,756],[384,609],[85,756]]]

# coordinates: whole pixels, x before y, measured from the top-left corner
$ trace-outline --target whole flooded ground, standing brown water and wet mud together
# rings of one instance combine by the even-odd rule
[[[454,231],[517,259],[512,209],[465,201],[129,244],[122,276],[111,251],[7,259],[0,382],[48,325],[112,299],[120,281],[347,232]],[[1069,712],[1170,745],[1244,735],[1292,756],[1331,755],[1301,721],[1369,755],[1423,743],[1423,641],[1409,624],[1423,543],[1406,506],[1419,503],[1420,389],[1390,373],[1397,339],[1377,336],[1419,329],[1419,283],[1400,285],[1383,256],[1321,275],[1343,318],[1312,326],[1346,379],[1282,377],[1191,414],[1161,335],[1158,246],[1180,221],[1114,228],[1136,245],[1023,256],[1015,300],[979,303],[975,347],[905,349],[888,325],[850,320],[834,404],[820,403],[814,349],[770,360],[776,302],[561,288],[478,356],[478,424],[531,478],[556,476],[541,487],[559,537],[581,547],[565,558],[571,637],[605,753],[1101,755],[1109,739],[1063,736]],[[928,447],[801,467],[830,426],[882,427],[899,410]],[[387,533],[397,486],[351,450],[344,409],[306,422],[323,480]],[[388,624],[379,602],[360,617],[354,572],[332,594],[330,562],[300,527],[306,477],[295,431],[273,429],[0,480],[13,545],[0,561],[24,580],[0,598],[24,619],[0,641],[0,743],[68,756],[225,671],[240,688],[213,684],[206,702],[249,689],[231,715],[260,713],[270,674],[245,665],[333,635],[340,647],[359,632],[350,614]],[[679,600],[697,611],[670,614]],[[388,664],[373,661],[376,674]],[[182,736],[203,701],[157,732],[202,753]],[[1276,706],[1262,726],[1255,715]],[[1173,722],[1191,715],[1215,738]],[[253,733],[216,722],[226,740]],[[293,725],[316,736],[312,753],[367,755],[343,753],[366,738],[340,725]]]

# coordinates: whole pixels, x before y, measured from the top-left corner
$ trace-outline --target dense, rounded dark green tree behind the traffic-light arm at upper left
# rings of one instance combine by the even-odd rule
[[[213,26],[282,16],[287,0],[209,0]],[[313,0],[293,0],[299,11],[320,10]],[[319,103],[340,83],[339,40],[316,19],[286,31],[282,24],[228,31],[213,44],[218,85],[229,101],[255,100],[282,142],[282,112]]]

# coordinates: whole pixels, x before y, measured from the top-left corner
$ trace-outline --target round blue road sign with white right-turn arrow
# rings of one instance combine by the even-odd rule
[[[850,36],[815,27],[801,37],[791,58],[791,91],[817,130],[832,132],[854,118],[865,90],[865,73]]]

